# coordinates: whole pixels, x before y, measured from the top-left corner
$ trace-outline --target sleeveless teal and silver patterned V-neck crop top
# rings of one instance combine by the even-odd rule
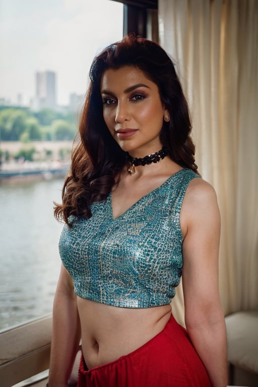
[[[59,251],[76,294],[119,307],[169,304],[182,273],[181,205],[195,177],[180,170],[116,219],[111,193],[90,219],[71,217]]]

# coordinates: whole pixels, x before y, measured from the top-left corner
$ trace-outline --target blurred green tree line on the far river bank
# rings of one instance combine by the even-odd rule
[[[0,107],[1,141],[73,140],[77,132],[73,113]]]

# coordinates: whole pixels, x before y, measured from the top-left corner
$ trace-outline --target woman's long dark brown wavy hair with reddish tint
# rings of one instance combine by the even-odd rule
[[[167,147],[173,161],[198,173],[188,105],[170,57],[157,43],[134,34],[126,35],[106,47],[92,62],[90,85],[79,124],[79,141],[64,181],[62,204],[55,203],[55,217],[68,224],[71,215],[92,216],[91,204],[107,198],[126,163],[126,153],[105,124],[100,92],[104,72],[124,66],[140,69],[158,86],[161,101],[170,113],[170,121],[164,121],[161,129],[161,144]]]

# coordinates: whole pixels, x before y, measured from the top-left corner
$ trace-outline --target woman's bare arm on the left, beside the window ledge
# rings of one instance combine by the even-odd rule
[[[74,283],[61,266],[54,303],[49,387],[67,387],[81,338]]]

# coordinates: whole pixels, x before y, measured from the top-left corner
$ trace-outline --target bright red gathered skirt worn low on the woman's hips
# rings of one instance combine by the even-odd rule
[[[171,315],[164,330],[142,347],[87,370],[78,387],[211,387],[207,371],[184,328]]]

